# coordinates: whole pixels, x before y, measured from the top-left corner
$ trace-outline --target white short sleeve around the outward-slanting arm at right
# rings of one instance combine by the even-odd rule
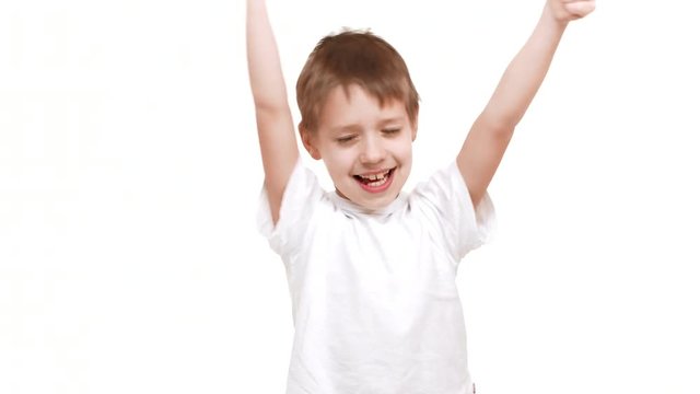
[[[495,211],[489,194],[475,208],[456,162],[436,172],[413,192],[427,215],[440,228],[450,253],[460,260],[489,241],[495,230]]]

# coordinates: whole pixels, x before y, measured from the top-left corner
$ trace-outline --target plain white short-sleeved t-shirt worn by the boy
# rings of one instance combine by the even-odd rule
[[[325,192],[300,162],[272,225],[259,225],[287,269],[294,341],[287,394],[467,394],[472,383],[455,285],[494,224],[456,166],[381,211]]]

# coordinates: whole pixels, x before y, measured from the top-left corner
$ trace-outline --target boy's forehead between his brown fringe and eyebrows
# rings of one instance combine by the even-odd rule
[[[408,113],[401,101],[387,99],[381,103],[378,97],[357,84],[334,88],[319,115],[322,129],[408,120]]]

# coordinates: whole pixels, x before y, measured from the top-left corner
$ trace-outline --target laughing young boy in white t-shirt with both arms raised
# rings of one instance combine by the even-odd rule
[[[454,162],[401,193],[418,93],[382,38],[319,42],[299,78],[299,132],[335,185],[301,164],[264,0],[247,0],[247,54],[265,169],[261,228],[287,269],[294,317],[288,394],[465,394],[460,259],[491,228],[489,185],[567,27],[593,0],[548,0]]]

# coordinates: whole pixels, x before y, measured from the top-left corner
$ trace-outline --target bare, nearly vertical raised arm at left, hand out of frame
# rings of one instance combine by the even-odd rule
[[[246,45],[265,187],[272,221],[277,223],[284,187],[299,159],[299,148],[265,0],[247,0]]]

